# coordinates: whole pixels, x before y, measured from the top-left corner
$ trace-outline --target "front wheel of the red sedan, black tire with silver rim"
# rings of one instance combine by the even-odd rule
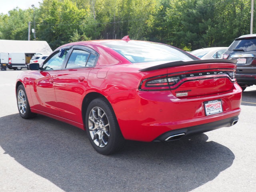
[[[36,116],[36,113],[32,113],[28,103],[28,97],[23,85],[18,86],[16,92],[17,106],[20,116],[24,119],[30,119]]]

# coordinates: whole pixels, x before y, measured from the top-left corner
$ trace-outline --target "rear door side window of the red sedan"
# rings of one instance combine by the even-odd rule
[[[84,50],[73,50],[66,68],[81,68],[86,66],[90,53]]]

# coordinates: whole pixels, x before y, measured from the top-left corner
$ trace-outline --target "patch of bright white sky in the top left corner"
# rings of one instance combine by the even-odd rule
[[[32,8],[32,4],[39,8],[39,3],[43,0],[0,0],[0,13],[7,14],[8,11],[18,7],[21,9]]]

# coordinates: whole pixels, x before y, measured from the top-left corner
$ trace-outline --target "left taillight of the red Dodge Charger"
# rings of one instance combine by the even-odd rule
[[[180,76],[149,78],[142,81],[139,89],[143,91],[170,90],[169,86],[176,84],[179,80]]]

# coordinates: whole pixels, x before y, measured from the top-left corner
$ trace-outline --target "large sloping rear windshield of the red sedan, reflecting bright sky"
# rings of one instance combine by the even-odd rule
[[[112,48],[132,63],[153,61],[191,61],[196,58],[164,44],[143,41],[115,41],[102,43]]]

